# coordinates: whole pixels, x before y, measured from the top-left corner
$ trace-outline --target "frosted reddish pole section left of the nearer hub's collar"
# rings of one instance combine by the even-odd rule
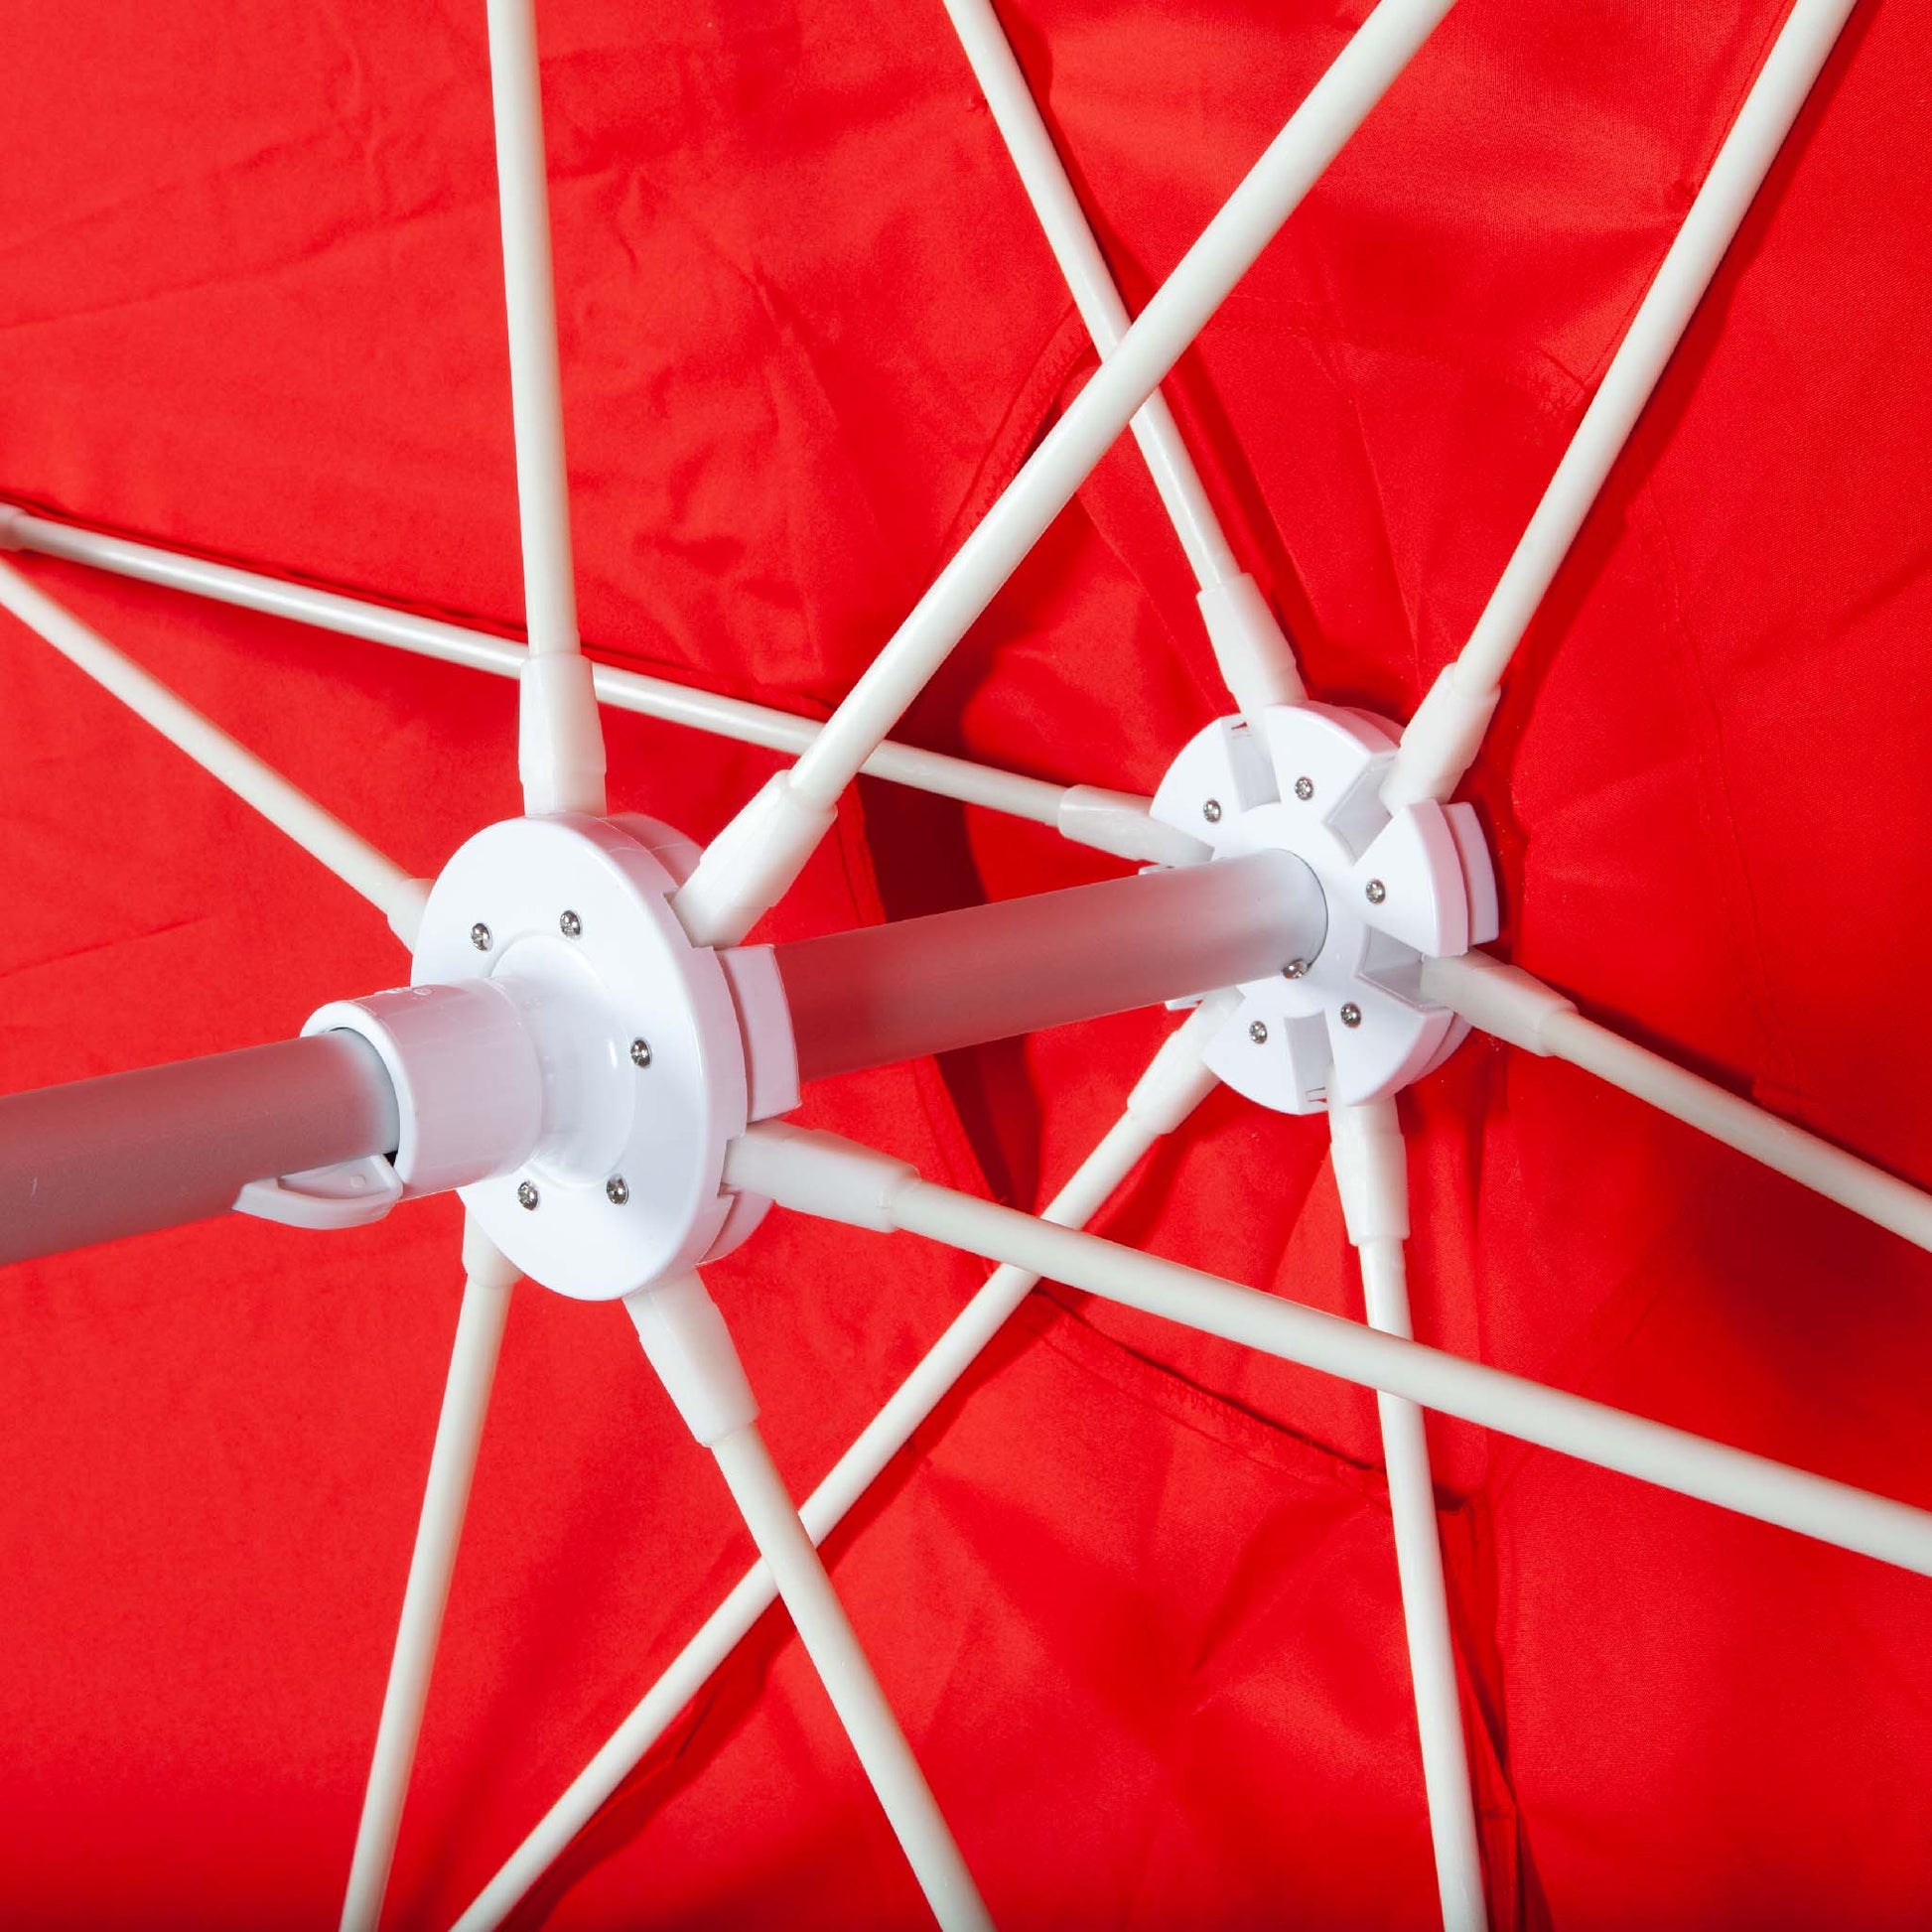
[[[249,1180],[396,1146],[375,1047],[315,1034],[0,1099],[0,1264],[226,1213]]]

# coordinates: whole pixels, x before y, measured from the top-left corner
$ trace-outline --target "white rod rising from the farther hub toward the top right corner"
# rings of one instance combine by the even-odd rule
[[[1795,0],[1476,628],[1405,732],[1383,786],[1391,804],[1447,798],[1474,759],[1509,659],[1764,185],[1853,4]]]

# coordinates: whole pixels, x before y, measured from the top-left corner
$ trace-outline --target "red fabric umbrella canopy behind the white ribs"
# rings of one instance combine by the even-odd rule
[[[1003,19],[1132,307],[1366,8]],[[1464,0],[1169,383],[1316,696],[1406,717],[1482,609],[1783,10]],[[547,0],[595,655],[819,717],[1094,369],[943,10]],[[1932,23],[1851,19],[1464,788],[1503,947],[1932,1184]],[[514,634],[481,4],[15,10],[0,495]],[[33,578],[417,873],[518,810],[514,688]],[[1151,790],[1229,709],[1122,444],[902,736]],[[8,622],[0,1088],[294,1032],[381,918]],[[607,713],[697,838],[767,753]],[[1119,867],[864,781],[761,937]],[[1043,1204],[1161,1014],[811,1088]],[[1403,1101],[1424,1341],[1932,1505],[1932,1267],[1555,1061]],[[114,1186],[112,1175],[100,1177]],[[448,1358],[458,1209],[0,1275],[12,1924],[328,1924]],[[1320,1121],[1215,1095],[1101,1231],[1339,1314]],[[713,1269],[804,1493],[983,1277],[788,1215]],[[1932,1917],[1926,1584],[1432,1424],[1499,1926]],[[518,1291],[390,1888],[446,1924],[750,1546],[612,1308]],[[1047,1285],[827,1544],[1005,1926],[1435,1913],[1368,1393]],[[767,1615],[526,1909],[922,1905]]]

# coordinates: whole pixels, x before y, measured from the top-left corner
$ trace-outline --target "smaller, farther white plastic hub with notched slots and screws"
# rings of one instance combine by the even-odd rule
[[[1366,711],[1273,705],[1258,728],[1209,724],[1153,798],[1153,817],[1213,858],[1277,846],[1321,883],[1320,952],[1244,985],[1202,1051],[1277,1113],[1395,1094],[1468,1032],[1424,995],[1422,962],[1495,937],[1495,871],[1472,808],[1381,802],[1395,742],[1397,726]]]

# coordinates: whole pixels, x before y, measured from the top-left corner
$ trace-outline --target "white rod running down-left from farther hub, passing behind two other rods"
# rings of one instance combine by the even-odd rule
[[[1200,1065],[1200,1045],[1227,1018],[1229,1010],[1231,1003],[1217,999],[1169,1034],[1153,1065],[1134,1088],[1126,1111],[1053,1198],[1045,1213],[1049,1221],[1066,1227],[1082,1227],[1090,1221],[1134,1171],[1142,1155],[1208,1097],[1213,1090],[1213,1074]],[[813,1542],[823,1542],[879,1480],[893,1457],[912,1439],[914,1430],[945,1401],[1007,1323],[1007,1318],[1026,1300],[1036,1281],[1037,1275],[1022,1267],[999,1267],[987,1277],[985,1285],[806,1499],[800,1519]],[[744,1642],[752,1625],[771,1607],[775,1594],[771,1571],[763,1563],[746,1571],[697,1634],[672,1658],[636,1710],[611,1735],[611,1741],[477,1893],[456,1922],[456,1932],[497,1932],[529,1893],[529,1888],[564,1855],[570,1841],[643,1762],[645,1752],[665,1735],[678,1712],[697,1696],[711,1673]]]

